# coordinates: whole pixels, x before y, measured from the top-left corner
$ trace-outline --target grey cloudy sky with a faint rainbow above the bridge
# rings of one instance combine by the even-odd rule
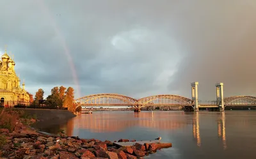
[[[255,0],[1,0],[0,52],[8,45],[26,89],[76,98],[118,93],[201,100],[256,95]]]

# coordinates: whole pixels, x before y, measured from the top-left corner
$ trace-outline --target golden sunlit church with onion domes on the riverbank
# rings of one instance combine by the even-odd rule
[[[29,104],[29,94],[25,83],[20,87],[20,79],[14,70],[15,62],[6,50],[0,60],[0,106],[13,107],[17,104]]]

